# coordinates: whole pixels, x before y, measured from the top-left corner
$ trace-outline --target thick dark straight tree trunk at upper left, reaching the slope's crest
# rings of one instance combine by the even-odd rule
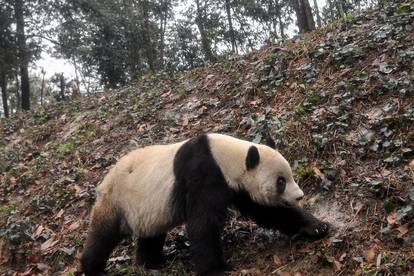
[[[24,34],[23,0],[15,0],[14,11],[16,17],[17,45],[19,50],[20,80],[22,90],[22,109],[30,109],[30,84],[29,84],[29,57]]]

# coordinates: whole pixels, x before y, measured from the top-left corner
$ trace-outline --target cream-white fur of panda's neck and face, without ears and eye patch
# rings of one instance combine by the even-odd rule
[[[234,190],[240,188],[249,192],[258,203],[272,205],[279,203],[275,179],[286,179],[286,190],[281,198],[296,203],[303,197],[303,191],[293,179],[292,170],[286,159],[276,150],[266,145],[236,139],[223,134],[208,135],[214,159],[222,170],[227,183]],[[248,149],[255,146],[259,150],[260,163],[253,170],[247,170],[245,158]]]

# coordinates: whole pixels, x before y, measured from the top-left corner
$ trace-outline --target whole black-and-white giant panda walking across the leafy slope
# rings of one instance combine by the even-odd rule
[[[321,238],[328,224],[299,207],[303,196],[272,140],[204,134],[140,148],[97,187],[81,269],[102,273],[114,247],[131,234],[138,238],[137,263],[159,268],[166,233],[185,223],[196,274],[225,275],[221,233],[228,208],[289,236]]]

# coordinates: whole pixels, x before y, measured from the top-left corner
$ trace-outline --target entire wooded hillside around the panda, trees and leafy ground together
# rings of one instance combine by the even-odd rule
[[[96,187],[125,154],[204,133],[274,139],[329,223],[319,240],[230,209],[227,273],[412,275],[414,1],[0,0],[0,275],[81,275]],[[46,56],[74,74],[40,68]],[[185,226],[160,270],[136,238],[107,275],[194,275]],[[138,243],[139,248],[139,243]]]

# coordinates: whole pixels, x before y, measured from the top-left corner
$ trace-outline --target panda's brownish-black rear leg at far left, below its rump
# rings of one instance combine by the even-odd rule
[[[80,259],[85,275],[104,272],[112,250],[123,238],[123,217],[107,202],[94,206],[88,236]]]

